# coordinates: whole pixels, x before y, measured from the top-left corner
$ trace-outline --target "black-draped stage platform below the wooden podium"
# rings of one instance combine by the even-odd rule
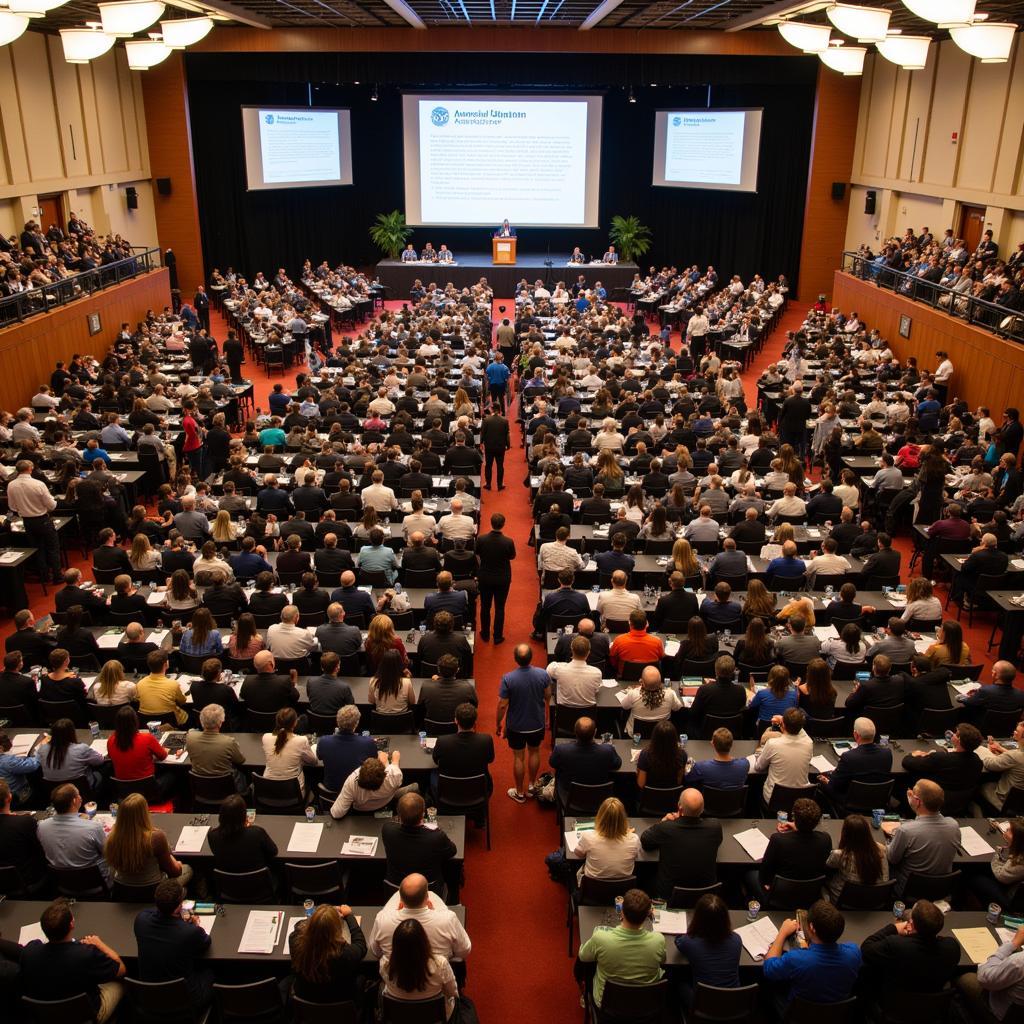
[[[549,270],[544,265],[551,259]],[[414,281],[422,281],[424,285],[431,282],[438,285],[453,285],[463,288],[475,285],[481,278],[486,278],[499,298],[507,298],[515,291],[515,286],[526,279],[531,285],[539,278],[548,280],[548,287],[554,289],[559,281],[565,286],[571,286],[583,274],[588,285],[599,281],[611,295],[613,289],[629,288],[633,275],[637,272],[636,263],[573,263],[568,264],[565,257],[561,261],[555,256],[544,253],[519,253],[513,266],[495,266],[490,262],[489,253],[463,253],[458,257],[458,263],[402,263],[400,260],[384,259],[377,264],[377,274],[381,284],[390,291],[390,299],[407,299]]]

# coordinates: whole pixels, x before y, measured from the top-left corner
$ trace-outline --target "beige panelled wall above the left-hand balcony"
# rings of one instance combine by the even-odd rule
[[[20,231],[52,193],[101,233],[157,245],[140,73],[122,46],[70,65],[58,36],[27,32],[0,48],[0,231]]]

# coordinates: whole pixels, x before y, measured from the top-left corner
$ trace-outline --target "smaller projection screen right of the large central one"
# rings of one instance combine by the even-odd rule
[[[652,183],[758,190],[761,111],[656,111]]]

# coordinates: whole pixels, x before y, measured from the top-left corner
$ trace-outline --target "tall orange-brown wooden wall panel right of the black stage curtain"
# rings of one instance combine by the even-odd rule
[[[807,174],[804,231],[800,245],[800,281],[797,293],[804,301],[827,292],[846,240],[850,189],[842,201],[831,198],[834,181],[850,183],[853,146],[860,105],[860,82],[818,69],[814,102],[811,165]]]

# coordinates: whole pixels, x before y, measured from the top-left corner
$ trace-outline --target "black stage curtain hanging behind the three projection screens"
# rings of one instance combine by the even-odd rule
[[[429,34],[427,34],[429,35]],[[429,42],[429,39],[426,40]],[[641,265],[711,263],[744,281],[800,268],[817,58],[694,57],[543,53],[186,53],[191,138],[207,271],[232,265],[293,276],[306,258],[370,265],[380,258],[368,229],[380,212],[403,207],[401,89],[529,88],[604,92],[600,230],[530,228],[524,252],[571,247],[601,253],[614,214],[652,230]],[[628,100],[630,83],[636,102]],[[358,86],[351,84],[359,82]],[[335,83],[341,83],[336,85]],[[348,83],[348,84],[346,84]],[[379,99],[371,99],[376,83]],[[247,191],[240,106],[347,106],[353,176],[346,187]],[[756,195],[651,186],[657,109],[764,109]],[[488,250],[479,228],[418,228],[416,247],[446,243],[457,254]],[[556,270],[556,274],[558,271]]]

